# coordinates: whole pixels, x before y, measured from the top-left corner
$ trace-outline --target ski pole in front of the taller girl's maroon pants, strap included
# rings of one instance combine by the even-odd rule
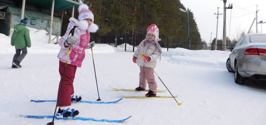
[[[70,30],[70,32],[69,32],[68,35],[70,35],[70,33],[71,33],[71,35],[73,36],[76,27],[77,27],[77,26],[74,26],[74,27]],[[59,100],[59,97],[60,97],[60,93],[61,93],[61,88],[62,88],[63,80],[64,80],[64,77],[65,77],[65,72],[66,72],[66,68],[67,68],[67,60],[68,60],[68,58],[69,58],[70,48],[71,48],[71,45],[69,46],[69,48],[68,48],[68,52],[67,52],[67,59],[66,59],[65,69],[64,69],[63,76],[62,76],[62,80],[61,80],[61,85],[60,85],[60,89],[59,89],[59,94],[58,94],[58,97],[57,97],[57,100],[56,100],[56,108],[57,108],[58,100]],[[54,125],[54,124],[55,124],[55,123],[54,123],[54,121],[55,121],[55,116],[56,116],[56,109],[55,109],[55,113],[54,113],[54,117],[53,117],[52,122],[47,123],[46,125]]]

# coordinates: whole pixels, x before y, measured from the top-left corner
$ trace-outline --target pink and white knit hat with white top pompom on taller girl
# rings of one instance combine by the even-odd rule
[[[92,19],[92,22],[94,21],[93,13],[89,10],[89,7],[86,4],[79,5],[78,12],[78,21],[84,19]]]

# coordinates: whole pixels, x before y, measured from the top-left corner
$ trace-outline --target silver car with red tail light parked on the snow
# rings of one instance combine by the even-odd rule
[[[235,83],[244,84],[245,80],[266,80],[266,33],[246,34],[231,50],[226,67],[235,73]]]

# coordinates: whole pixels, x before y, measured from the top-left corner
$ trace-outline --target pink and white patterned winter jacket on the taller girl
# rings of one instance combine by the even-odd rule
[[[68,26],[67,26],[67,32],[65,33],[64,36],[60,38],[58,42],[61,49],[60,49],[60,52],[58,53],[57,58],[61,62],[66,63],[67,61],[67,64],[72,64],[77,67],[81,67],[82,61],[85,58],[85,49],[89,46],[89,41],[90,41],[90,33],[88,31],[89,28],[85,31],[81,30],[82,26],[79,26],[80,23],[78,22],[78,20],[73,17],[71,17],[69,21],[70,22],[68,23]],[[77,26],[74,32],[74,36],[77,38],[77,41],[70,45],[71,49],[70,49],[70,53],[68,57],[67,53],[68,53],[69,47],[65,46],[65,41],[67,40],[68,37],[71,36],[71,33],[69,34],[69,32],[74,26]],[[97,26],[97,29],[98,29],[98,26]]]

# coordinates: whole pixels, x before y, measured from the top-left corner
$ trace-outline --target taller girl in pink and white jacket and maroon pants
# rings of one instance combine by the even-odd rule
[[[59,46],[61,47],[60,52],[58,53],[59,59],[59,73],[61,80],[63,77],[65,63],[67,61],[67,67],[65,71],[65,76],[62,83],[60,97],[58,99],[58,112],[56,113],[57,117],[69,117],[76,116],[79,114],[77,110],[69,110],[71,102],[79,102],[81,100],[80,96],[74,96],[74,87],[73,82],[75,78],[75,73],[77,67],[81,67],[82,61],[85,58],[85,49],[91,48],[94,46],[94,42],[90,42],[90,33],[96,32],[98,26],[93,23],[93,13],[88,9],[89,7],[86,4],[79,6],[79,16],[78,20],[74,17],[69,19],[67,32],[59,40]],[[74,28],[74,35],[72,36],[70,31]],[[70,49],[69,57],[67,55],[68,49]],[[61,86],[61,81],[59,83],[58,95]],[[65,112],[65,113],[63,113]],[[72,114],[72,115],[71,115]]]

